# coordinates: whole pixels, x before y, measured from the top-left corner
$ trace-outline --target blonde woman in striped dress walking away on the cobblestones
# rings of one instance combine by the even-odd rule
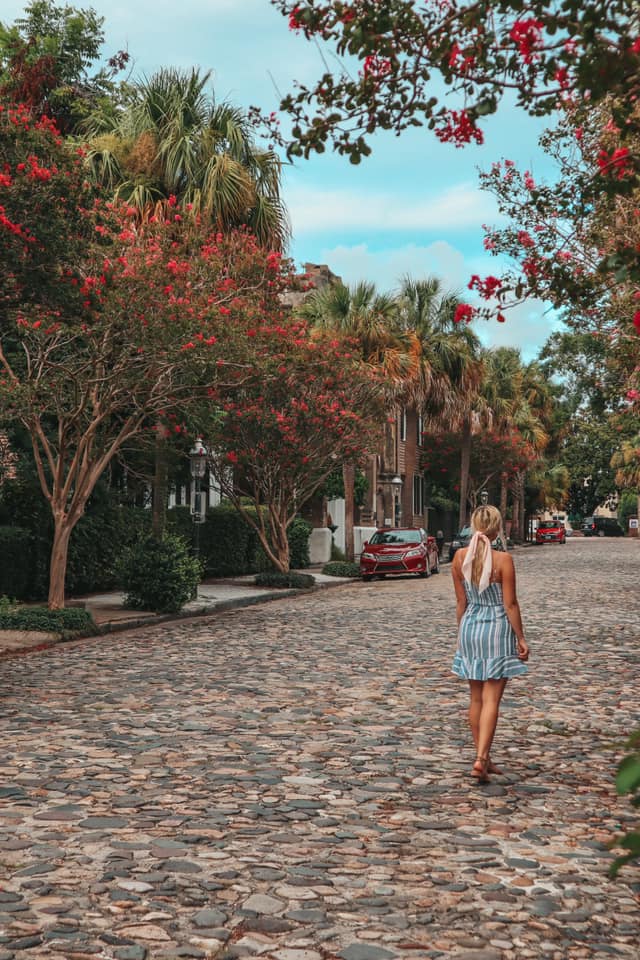
[[[491,549],[502,529],[500,512],[481,506],[471,517],[473,536],[456,551],[452,575],[456,591],[458,649],[452,670],[469,681],[469,726],[476,748],[472,776],[481,782],[500,773],[491,762],[491,744],[507,680],[526,673],[529,647],[524,638],[516,575],[508,553]]]

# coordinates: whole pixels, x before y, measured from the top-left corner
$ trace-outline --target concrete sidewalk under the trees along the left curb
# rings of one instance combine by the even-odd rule
[[[315,586],[308,590],[258,587],[254,582],[253,574],[206,580],[198,587],[197,598],[185,604],[179,613],[152,613],[147,610],[127,609],[124,606],[124,594],[121,591],[71,597],[67,600],[67,606],[84,607],[91,612],[101,633],[112,633],[117,630],[129,630],[171,620],[214,614],[237,607],[248,607],[255,603],[279,600],[282,597],[297,596],[318,589],[356,582],[347,577],[329,577],[321,573],[320,569],[320,567],[311,567],[307,570],[292,571],[292,573],[311,574],[314,577]],[[63,638],[55,633],[0,630],[0,655],[40,650],[61,642],[64,642]]]

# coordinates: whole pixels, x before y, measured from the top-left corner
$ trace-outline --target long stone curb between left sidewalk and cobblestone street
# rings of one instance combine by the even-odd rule
[[[179,622],[181,620],[195,620],[201,619],[202,617],[214,617],[218,613],[224,613],[228,610],[252,607],[258,603],[268,603],[272,600],[299,597],[301,595],[308,596],[310,593],[318,593],[321,590],[332,590],[336,587],[351,586],[354,583],[360,582],[361,581],[356,577],[353,577],[350,580],[336,578],[335,583],[316,583],[312,587],[286,588],[283,590],[273,590],[269,593],[262,593],[257,596],[235,597],[232,600],[221,600],[220,602],[216,603],[215,606],[203,606],[199,610],[181,610],[178,613],[166,613],[146,617],[143,616],[133,620],[107,620],[105,623],[97,625],[97,633],[85,634],[84,636],[79,635],[75,637],[51,636],[48,640],[44,640],[41,644],[36,646],[23,647],[22,649],[16,650],[0,650],[0,660],[5,660],[15,656],[24,656],[25,654],[36,653],[41,650],[49,650],[52,647],[57,647],[62,643],[72,643],[79,640],[96,640],[102,636],[108,637],[113,633],[126,633],[128,630],[155,627],[164,623]],[[87,609],[86,606],[85,609]]]

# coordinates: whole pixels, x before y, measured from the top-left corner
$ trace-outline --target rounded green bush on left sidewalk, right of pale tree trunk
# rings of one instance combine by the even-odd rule
[[[177,613],[196,595],[202,576],[182,537],[148,536],[125,551],[121,561],[125,605],[156,613]]]

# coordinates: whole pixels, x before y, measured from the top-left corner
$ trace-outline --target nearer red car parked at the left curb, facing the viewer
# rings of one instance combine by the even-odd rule
[[[376,530],[360,555],[363,580],[387,574],[417,573],[430,577],[438,573],[440,561],[435,537],[421,527],[384,527]]]

